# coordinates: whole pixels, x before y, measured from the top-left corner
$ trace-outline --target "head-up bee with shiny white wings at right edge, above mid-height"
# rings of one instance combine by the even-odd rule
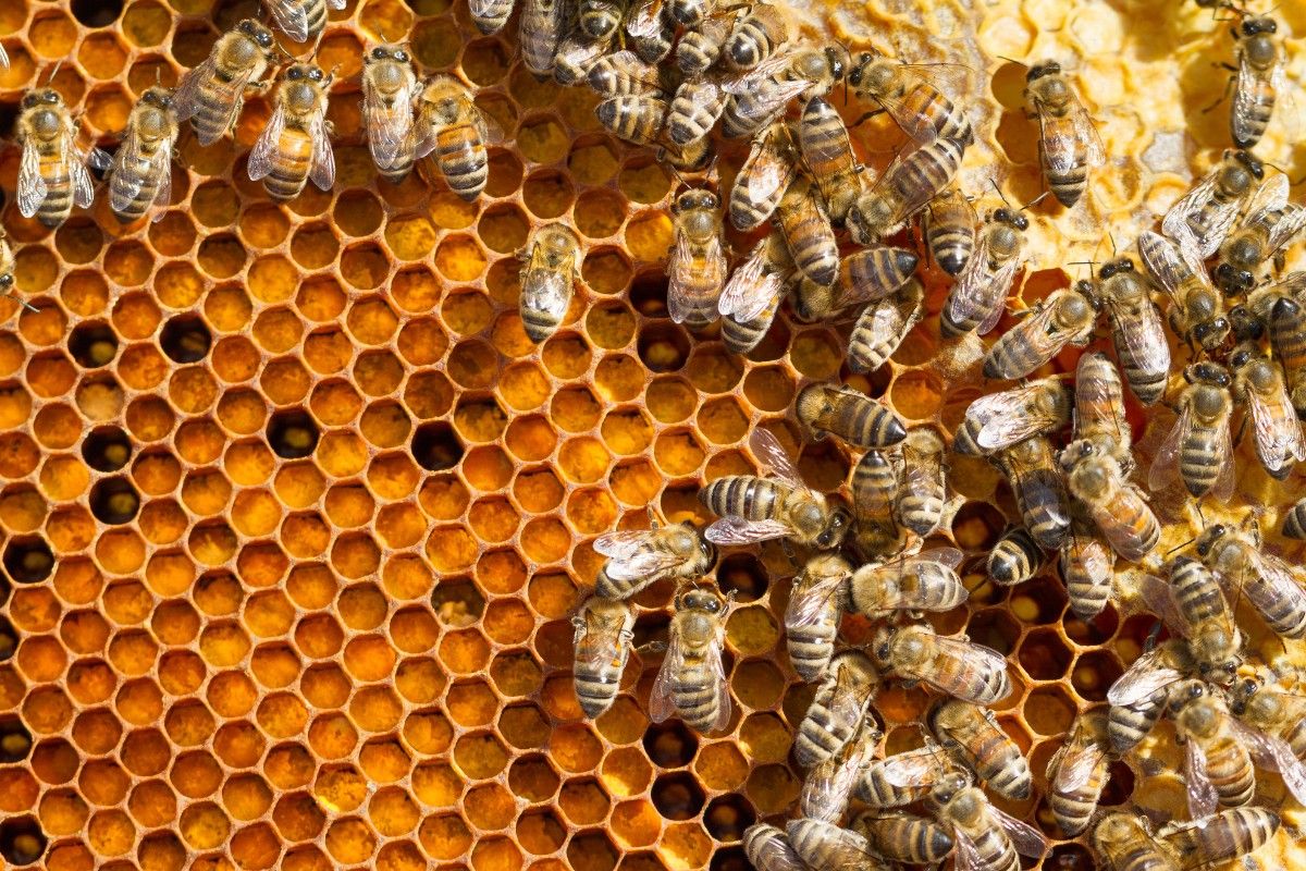
[[[1306,436],[1288,396],[1284,372],[1255,342],[1239,345],[1229,356],[1234,394],[1247,404],[1256,457],[1271,478],[1282,481],[1306,460]]]

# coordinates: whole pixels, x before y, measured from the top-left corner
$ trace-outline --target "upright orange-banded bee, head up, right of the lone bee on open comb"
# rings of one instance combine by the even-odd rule
[[[667,309],[677,324],[700,329],[717,319],[726,281],[721,200],[712,191],[691,188],[677,196],[671,214],[675,244],[666,266]]]

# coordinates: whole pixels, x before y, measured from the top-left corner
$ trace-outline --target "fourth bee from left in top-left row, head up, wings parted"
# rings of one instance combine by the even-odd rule
[[[249,179],[264,179],[273,200],[294,200],[310,179],[323,191],[336,183],[326,121],[330,81],[312,64],[295,64],[277,87],[277,107],[249,151]]]

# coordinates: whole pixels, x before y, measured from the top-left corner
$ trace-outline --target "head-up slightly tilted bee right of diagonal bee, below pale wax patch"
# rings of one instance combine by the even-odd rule
[[[1097,293],[1111,321],[1111,343],[1124,379],[1139,402],[1152,405],[1170,379],[1170,342],[1151,287],[1128,257],[1104,265],[1098,279]]]

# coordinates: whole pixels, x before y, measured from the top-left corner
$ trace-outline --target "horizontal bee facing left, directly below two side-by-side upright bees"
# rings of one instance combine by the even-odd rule
[[[966,601],[956,568],[965,554],[938,547],[884,564],[862,565],[848,581],[853,610],[872,619],[896,611],[949,611]]]

